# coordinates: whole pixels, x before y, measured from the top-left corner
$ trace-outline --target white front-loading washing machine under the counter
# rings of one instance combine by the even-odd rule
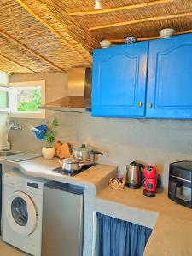
[[[6,172],[3,186],[3,241],[40,256],[44,180]]]

